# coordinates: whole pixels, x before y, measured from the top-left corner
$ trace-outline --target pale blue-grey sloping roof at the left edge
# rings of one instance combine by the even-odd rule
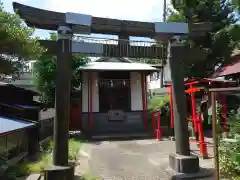
[[[35,124],[17,118],[0,116],[0,135],[34,126]]]

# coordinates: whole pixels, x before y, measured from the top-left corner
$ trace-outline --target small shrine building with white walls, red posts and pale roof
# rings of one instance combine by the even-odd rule
[[[92,133],[144,130],[147,122],[148,64],[100,58],[81,67],[82,129]]]

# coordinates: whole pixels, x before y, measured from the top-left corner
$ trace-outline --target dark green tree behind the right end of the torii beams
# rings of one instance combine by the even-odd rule
[[[173,2],[174,0],[172,0]],[[169,22],[211,22],[212,30],[204,37],[188,40],[192,48],[208,50],[203,61],[184,61],[186,77],[207,77],[216,67],[223,66],[231,60],[232,51],[240,42],[240,25],[237,11],[228,0],[190,0],[181,7],[170,10]],[[189,3],[190,2],[190,3]]]

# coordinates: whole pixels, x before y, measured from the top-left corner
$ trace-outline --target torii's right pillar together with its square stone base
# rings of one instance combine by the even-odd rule
[[[199,159],[190,154],[186,100],[184,89],[183,55],[185,46],[179,42],[171,44],[169,64],[171,68],[174,133],[176,154],[170,154],[169,164],[173,170],[181,173],[195,173],[199,171]]]

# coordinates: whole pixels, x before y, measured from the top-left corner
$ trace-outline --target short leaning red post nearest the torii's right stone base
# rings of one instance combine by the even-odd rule
[[[207,145],[204,139],[201,116],[197,116],[197,125],[198,125],[198,132],[199,132],[200,153],[203,158],[208,158]]]

